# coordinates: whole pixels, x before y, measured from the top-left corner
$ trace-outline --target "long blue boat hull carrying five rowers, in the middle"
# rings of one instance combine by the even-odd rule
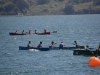
[[[84,49],[84,46],[80,46],[79,48]],[[40,51],[48,51],[48,50],[60,50],[59,47],[45,47],[45,48],[37,48],[37,47],[24,47],[24,46],[19,46],[19,50],[29,50],[29,49],[38,49]],[[62,50],[73,50],[73,49],[78,49],[77,47],[64,47]]]

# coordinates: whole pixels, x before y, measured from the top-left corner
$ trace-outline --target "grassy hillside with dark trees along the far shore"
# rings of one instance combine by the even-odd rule
[[[100,14],[100,0],[0,0],[0,15]]]

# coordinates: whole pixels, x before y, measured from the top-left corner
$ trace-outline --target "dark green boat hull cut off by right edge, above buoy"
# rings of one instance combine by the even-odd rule
[[[96,50],[73,50],[73,55],[100,55]]]

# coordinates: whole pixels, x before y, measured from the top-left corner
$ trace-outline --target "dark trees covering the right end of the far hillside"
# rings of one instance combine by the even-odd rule
[[[86,3],[90,1],[93,1],[94,6],[100,6],[100,0],[69,0],[64,8],[64,12],[67,15],[68,14],[100,14],[100,10],[93,10],[92,6],[78,12],[74,11],[74,6],[73,6],[74,4]]]

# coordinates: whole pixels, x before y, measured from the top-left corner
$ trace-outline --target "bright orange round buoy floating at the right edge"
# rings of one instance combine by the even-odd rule
[[[89,63],[89,66],[91,67],[97,67],[97,66],[100,66],[100,59],[97,57],[91,57],[88,63]]]

